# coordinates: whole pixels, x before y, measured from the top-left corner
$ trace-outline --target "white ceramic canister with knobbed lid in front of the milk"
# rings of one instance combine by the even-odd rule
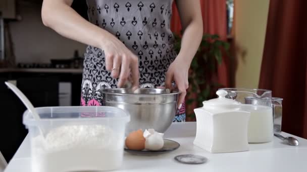
[[[196,136],[194,145],[211,153],[249,150],[247,126],[250,112],[240,109],[239,102],[226,99],[226,91],[217,92],[218,99],[203,102],[194,109]]]

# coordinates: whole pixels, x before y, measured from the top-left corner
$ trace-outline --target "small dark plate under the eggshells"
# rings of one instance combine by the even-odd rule
[[[169,140],[169,139],[163,139],[164,140],[164,145],[162,149],[160,150],[131,150],[125,147],[125,151],[132,153],[132,154],[138,154],[138,155],[157,155],[157,154],[162,154],[162,153],[168,153],[173,150],[176,150],[179,148],[180,144],[174,140]]]

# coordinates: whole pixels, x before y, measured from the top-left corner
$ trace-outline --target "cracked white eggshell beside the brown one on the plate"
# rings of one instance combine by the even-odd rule
[[[145,149],[160,150],[164,145],[163,133],[158,133],[154,129],[144,131]]]

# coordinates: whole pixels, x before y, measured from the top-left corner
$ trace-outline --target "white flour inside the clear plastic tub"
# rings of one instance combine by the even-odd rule
[[[104,125],[68,125],[32,139],[32,170],[109,170],[123,159],[124,136]]]

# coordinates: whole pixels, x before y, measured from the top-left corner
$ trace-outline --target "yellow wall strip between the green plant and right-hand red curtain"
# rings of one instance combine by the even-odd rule
[[[269,0],[235,0],[238,88],[258,88],[269,3]]]

